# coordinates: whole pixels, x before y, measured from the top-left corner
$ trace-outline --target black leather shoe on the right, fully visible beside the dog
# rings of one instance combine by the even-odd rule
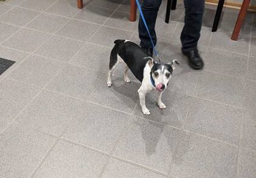
[[[182,49],[181,49],[181,51],[189,59],[189,65],[191,68],[193,68],[193,69],[202,69],[203,68],[204,62],[203,62],[203,59],[201,59],[201,57],[199,56],[197,49],[189,51],[189,52],[185,52]]]

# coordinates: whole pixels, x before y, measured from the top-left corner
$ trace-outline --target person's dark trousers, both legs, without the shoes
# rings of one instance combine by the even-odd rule
[[[141,9],[149,27],[153,42],[157,43],[157,34],[155,33],[155,22],[157,21],[157,13],[162,0],[143,0]],[[200,38],[200,30],[202,26],[204,13],[204,0],[184,0],[185,18],[184,27],[181,32],[181,43],[183,51],[191,51],[197,49],[197,42]],[[152,48],[149,35],[144,27],[140,17],[139,37],[141,47]]]

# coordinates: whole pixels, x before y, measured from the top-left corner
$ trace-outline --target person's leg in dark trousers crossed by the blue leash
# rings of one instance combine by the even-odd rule
[[[155,22],[157,21],[157,13],[160,8],[162,0],[143,0],[141,4],[141,10],[143,11],[144,17],[147,22],[147,27],[149,27],[150,34],[153,39],[154,45],[157,43],[157,34],[155,33]],[[139,21],[139,37],[141,40],[140,46],[142,48],[152,48],[152,43],[149,38],[149,34],[147,34],[147,30],[144,26],[144,23],[140,16]]]

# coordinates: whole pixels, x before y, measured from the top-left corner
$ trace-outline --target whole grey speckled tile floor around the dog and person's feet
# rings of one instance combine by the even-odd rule
[[[134,77],[124,83],[118,68],[106,86],[113,40],[139,42],[129,0],[1,2],[0,57],[16,63],[0,76],[0,177],[256,177],[256,15],[234,42],[238,11],[225,8],[212,33],[215,8],[198,45],[205,68],[193,71],[180,51],[182,2],[170,24],[163,2],[158,49],[181,65],[167,109],[149,94],[144,116]]]

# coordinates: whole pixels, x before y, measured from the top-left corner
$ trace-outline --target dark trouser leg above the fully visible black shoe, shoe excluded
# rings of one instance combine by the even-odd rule
[[[182,49],[185,52],[197,49],[203,21],[204,0],[184,0],[185,24],[181,33]]]

